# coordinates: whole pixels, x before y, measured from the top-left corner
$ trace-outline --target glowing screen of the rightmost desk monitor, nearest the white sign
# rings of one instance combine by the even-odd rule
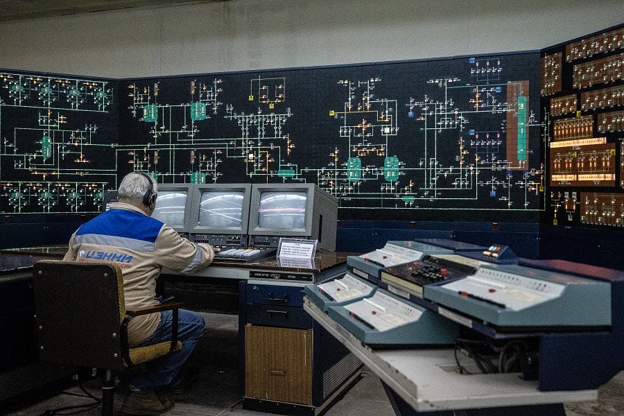
[[[258,226],[294,229],[306,226],[306,192],[267,191],[260,194]]]

